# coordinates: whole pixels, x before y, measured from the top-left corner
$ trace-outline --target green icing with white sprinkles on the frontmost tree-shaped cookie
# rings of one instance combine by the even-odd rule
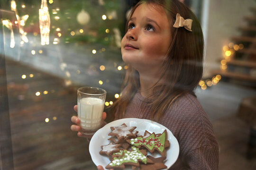
[[[120,166],[121,164],[126,162],[137,163],[138,160],[141,160],[146,164],[146,156],[143,153],[141,153],[138,148],[133,146],[131,151],[121,150],[119,153],[114,153],[114,154],[121,155],[122,152],[124,152],[123,156],[119,158],[115,157],[113,161],[110,162],[109,164],[110,166],[113,166],[113,167]]]

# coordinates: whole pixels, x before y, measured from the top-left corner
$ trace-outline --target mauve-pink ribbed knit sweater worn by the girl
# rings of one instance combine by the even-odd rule
[[[151,119],[151,106],[141,107],[143,100],[137,93],[123,118]],[[195,96],[180,96],[158,123],[171,130],[180,145],[178,160],[170,170],[218,170],[219,145],[210,120]]]

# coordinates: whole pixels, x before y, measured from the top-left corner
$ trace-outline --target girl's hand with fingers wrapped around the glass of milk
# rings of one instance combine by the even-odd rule
[[[77,112],[77,105],[74,106],[74,110]],[[107,123],[104,121],[106,118],[107,118],[107,113],[106,113],[106,112],[103,112],[103,113],[102,113],[102,119],[101,119],[101,127],[103,127],[104,125],[107,124]],[[78,132],[78,133],[77,133],[77,136],[79,136],[79,137],[87,137],[88,139],[91,139],[92,135],[84,135],[84,134],[82,134],[81,132],[79,132],[80,129],[81,129],[81,127],[79,126],[79,124],[80,124],[80,119],[78,119],[77,116],[72,116],[71,121],[76,124],[76,125],[71,125],[70,128],[71,128],[72,131]]]

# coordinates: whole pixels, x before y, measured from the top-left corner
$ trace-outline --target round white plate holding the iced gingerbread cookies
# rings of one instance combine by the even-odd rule
[[[101,145],[109,144],[110,141],[108,138],[108,134],[111,132],[110,127],[116,127],[120,126],[123,123],[125,123],[128,127],[136,127],[135,130],[139,131],[138,135],[144,135],[145,130],[147,130],[150,133],[155,132],[157,133],[163,133],[164,130],[167,130],[167,138],[170,141],[170,147],[166,148],[166,161],[165,165],[167,166],[167,169],[169,169],[174,162],[177,160],[179,155],[179,143],[177,139],[174,137],[173,133],[167,129],[165,126],[154,122],[152,120],[147,119],[136,119],[136,118],[127,118],[127,119],[119,119],[112,121],[99,129],[91,138],[91,142],[89,145],[89,152],[91,154],[91,159],[94,162],[96,166],[102,165],[103,168],[105,168],[109,163],[110,159],[107,156],[101,155],[99,152],[101,151]],[[149,154],[149,152],[148,152]],[[150,154],[152,155],[152,154]],[[160,153],[155,152],[152,156],[154,157],[160,157]]]

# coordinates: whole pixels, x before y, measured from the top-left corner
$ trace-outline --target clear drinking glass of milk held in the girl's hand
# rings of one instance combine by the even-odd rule
[[[101,127],[106,93],[98,87],[80,87],[77,90],[77,114],[82,134],[93,135]]]

